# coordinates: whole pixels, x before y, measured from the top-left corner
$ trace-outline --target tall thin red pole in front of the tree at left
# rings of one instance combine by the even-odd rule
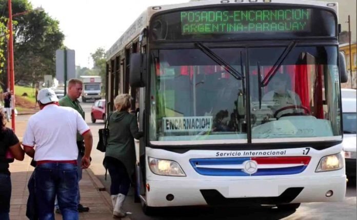
[[[12,36],[12,9],[11,0],[8,0],[9,7],[9,73],[10,73],[10,91],[11,91],[11,128],[15,132],[15,75],[14,75],[14,51]]]

